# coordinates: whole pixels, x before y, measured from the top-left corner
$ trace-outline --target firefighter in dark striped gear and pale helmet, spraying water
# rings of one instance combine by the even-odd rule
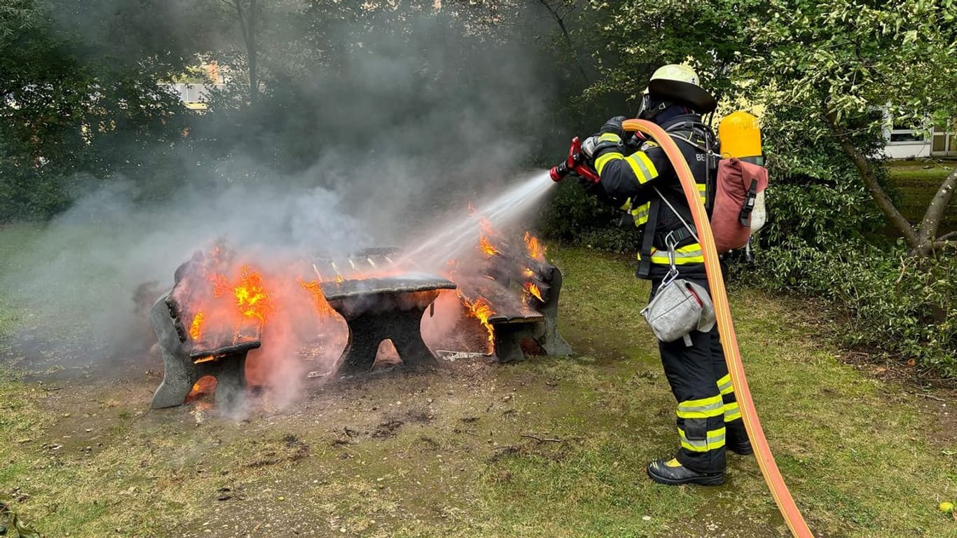
[[[652,75],[638,114],[676,141],[695,176],[702,203],[707,198],[708,177],[716,173],[709,169],[709,154],[712,148],[717,150],[717,143],[701,123],[701,115],[716,106],[690,67],[670,64]],[[612,118],[583,144],[601,181],[582,184],[586,191],[634,217],[642,234],[637,277],[651,280],[651,297],[673,269],[679,278],[710,293],[701,245],[695,238],[697,231],[692,234],[694,220],[678,174],[655,142],[630,135],[628,143],[623,143],[624,120],[623,116]],[[717,326],[706,332],[693,330],[689,337],[690,346],[687,339],[658,342],[665,375],[678,400],[679,449],[670,460],[652,461],[647,472],[659,483],[717,485],[724,481],[726,449],[738,454],[753,451],[724,364]]]

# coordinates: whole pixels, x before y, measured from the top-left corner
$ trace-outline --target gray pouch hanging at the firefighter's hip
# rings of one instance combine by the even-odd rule
[[[715,325],[714,305],[707,291],[684,279],[665,280],[641,315],[658,340],[674,342],[683,338],[688,347],[692,330],[708,331]]]

